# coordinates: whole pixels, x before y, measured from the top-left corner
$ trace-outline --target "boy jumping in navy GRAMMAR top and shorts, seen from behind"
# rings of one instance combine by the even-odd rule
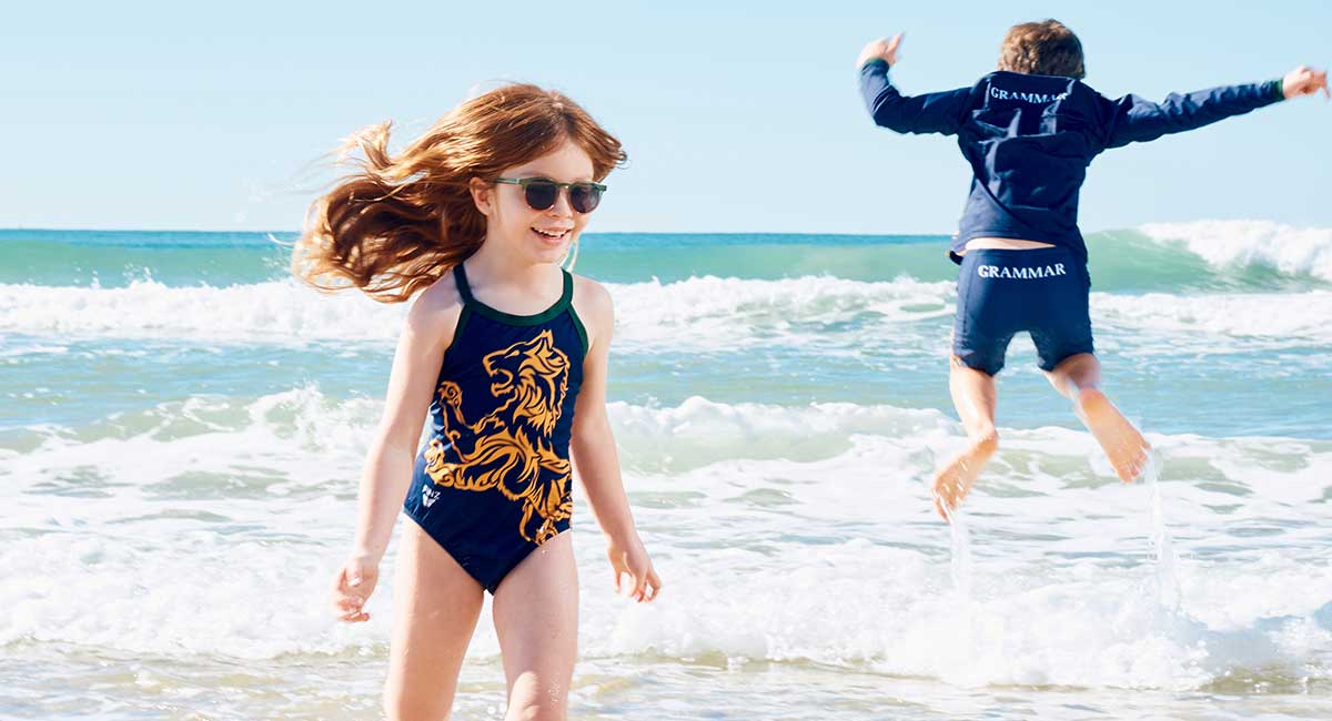
[[[971,194],[948,251],[962,266],[948,388],[968,444],[934,478],[948,520],[999,444],[994,375],[1014,334],[1028,331],[1040,368],[1132,482],[1147,462],[1142,434],[1098,388],[1087,295],[1087,247],[1078,192],[1103,150],[1201,128],[1284,98],[1328,94],[1325,71],[1281,80],[1107,100],[1082,82],[1082,43],[1055,20],[1010,28],[999,71],[971,88],[904,97],[888,80],[902,35],[860,52],[860,90],[874,122],[899,133],[956,134],[971,164]]]

